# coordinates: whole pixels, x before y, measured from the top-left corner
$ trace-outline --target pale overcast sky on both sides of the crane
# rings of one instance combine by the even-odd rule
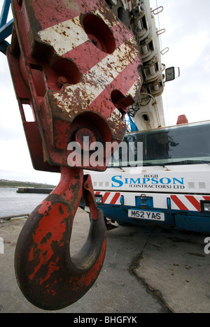
[[[156,8],[156,0],[151,6]],[[0,10],[3,0],[0,0]],[[210,119],[210,0],[158,0],[162,57],[181,76],[167,82],[162,95],[167,125],[185,114],[189,122]],[[156,16],[157,25],[158,17]],[[57,184],[59,174],[34,170],[22,128],[6,56],[0,53],[0,179]]]

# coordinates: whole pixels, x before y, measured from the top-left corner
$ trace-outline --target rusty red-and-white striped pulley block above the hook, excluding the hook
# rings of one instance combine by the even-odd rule
[[[34,168],[106,170],[106,142],[123,140],[123,118],[142,85],[134,34],[105,0],[12,0],[12,8],[7,56]],[[98,166],[68,161],[69,143],[84,131],[104,145]]]

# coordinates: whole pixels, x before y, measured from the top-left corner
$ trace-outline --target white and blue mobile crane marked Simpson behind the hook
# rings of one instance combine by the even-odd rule
[[[157,41],[160,31],[155,31],[153,24],[153,15],[161,8],[150,11],[147,5],[141,1],[134,11],[130,3],[137,29],[149,27],[153,31],[148,33],[145,28],[141,32],[144,82],[139,102],[129,109],[139,131],[126,134],[105,173],[91,173],[98,208],[109,220],[109,228],[115,221],[136,225],[146,222],[209,233],[210,124],[188,124],[186,116],[181,115],[176,126],[165,126],[160,96],[165,81]],[[166,75],[166,81],[173,80],[175,68],[169,68]]]

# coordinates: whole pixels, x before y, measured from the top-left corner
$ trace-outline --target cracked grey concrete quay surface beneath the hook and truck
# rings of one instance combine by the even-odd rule
[[[45,312],[22,296],[15,279],[15,245],[25,221],[13,219],[0,224],[4,240],[0,313]],[[88,215],[79,209],[71,253],[84,244],[89,224]],[[77,303],[57,312],[210,312],[210,254],[204,253],[207,236],[151,225],[119,226],[109,231],[106,258],[97,281]]]

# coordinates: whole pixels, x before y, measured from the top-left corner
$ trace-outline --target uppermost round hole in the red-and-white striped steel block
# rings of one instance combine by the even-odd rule
[[[106,53],[113,53],[116,50],[116,41],[111,29],[104,21],[96,15],[86,15],[83,19],[83,26],[87,36],[92,43]]]

